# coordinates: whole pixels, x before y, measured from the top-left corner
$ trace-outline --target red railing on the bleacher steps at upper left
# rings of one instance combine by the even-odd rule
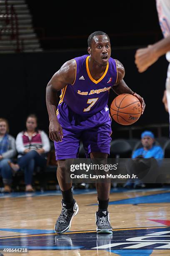
[[[16,52],[23,51],[23,43],[20,43],[19,40],[19,31],[18,31],[18,17],[15,12],[13,5],[8,5],[7,0],[5,0],[5,14],[1,15],[1,18],[4,21],[3,28],[0,29],[0,39],[5,32],[8,32],[9,39],[16,40]]]

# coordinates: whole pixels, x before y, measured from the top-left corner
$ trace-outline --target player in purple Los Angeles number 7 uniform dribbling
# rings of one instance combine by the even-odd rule
[[[88,38],[88,53],[62,65],[46,89],[46,103],[50,120],[49,135],[55,144],[58,164],[57,179],[62,192],[62,212],[55,224],[55,233],[65,233],[78,212],[73,199],[72,184],[65,182],[69,159],[77,158],[80,138],[86,156],[107,159],[110,153],[111,118],[107,108],[110,88],[119,95],[133,94],[144,111],[145,102],[124,82],[125,69],[120,61],[110,58],[109,36],[96,31]],[[56,108],[57,91],[61,90]],[[56,111],[57,110],[57,111]],[[57,115],[56,115],[57,114]],[[107,211],[110,183],[97,183],[97,233],[112,233]]]

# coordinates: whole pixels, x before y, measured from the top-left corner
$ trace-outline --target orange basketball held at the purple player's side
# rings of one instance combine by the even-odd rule
[[[120,94],[110,106],[112,118],[121,125],[131,125],[138,121],[142,107],[137,97],[131,94]]]

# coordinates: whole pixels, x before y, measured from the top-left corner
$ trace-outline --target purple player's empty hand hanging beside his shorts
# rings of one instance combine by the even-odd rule
[[[62,127],[57,120],[50,121],[49,125],[49,137],[52,141],[62,141],[63,133]]]

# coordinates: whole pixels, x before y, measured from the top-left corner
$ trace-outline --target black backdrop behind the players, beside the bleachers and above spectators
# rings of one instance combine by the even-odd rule
[[[127,137],[128,130],[135,126],[140,126],[140,130],[133,133],[139,137],[145,125],[168,123],[168,113],[162,103],[168,61],[165,56],[161,57],[143,74],[138,73],[134,63],[138,47],[162,38],[155,0],[96,3],[95,8],[81,2],[76,7],[78,11],[74,3],[33,0],[27,3],[44,51],[1,55],[0,116],[9,120],[13,136],[25,128],[25,119],[30,113],[38,116],[39,128],[48,133],[47,82],[65,61],[87,54],[87,38],[96,30],[109,34],[112,57],[125,67],[125,82],[146,102],[145,113],[134,125],[125,127],[112,121],[112,138]],[[109,105],[115,96],[110,92]],[[123,127],[127,131],[118,131]],[[168,136],[168,128],[163,135]]]

